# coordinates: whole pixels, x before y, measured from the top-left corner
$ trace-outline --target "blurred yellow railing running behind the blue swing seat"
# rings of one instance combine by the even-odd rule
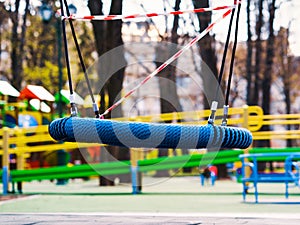
[[[221,123],[223,110],[216,113],[216,124]],[[210,110],[167,113],[151,116],[139,116],[130,118],[119,118],[122,121],[144,121],[144,122],[162,122],[162,121],[181,121],[184,124],[205,124],[210,115]],[[254,140],[270,139],[300,139],[300,130],[280,130],[280,131],[259,131],[264,125],[300,125],[300,114],[289,115],[264,115],[263,110],[258,106],[245,106],[242,108],[229,109],[229,126],[239,126],[249,129],[253,134]],[[45,152],[57,150],[70,150],[85,148],[91,146],[100,146],[100,144],[91,143],[60,143],[54,141],[49,133],[48,126],[38,126],[30,128],[2,128],[0,129],[0,155],[2,165],[8,165],[9,154],[17,155],[17,168],[24,168],[25,158],[32,152]]]

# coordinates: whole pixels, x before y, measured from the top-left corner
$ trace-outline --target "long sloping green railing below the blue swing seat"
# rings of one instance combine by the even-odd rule
[[[280,152],[300,152],[300,148],[253,148],[249,153],[280,153]],[[219,152],[209,152],[205,154],[182,155],[173,157],[159,157],[155,159],[144,159],[138,161],[139,172],[149,172],[157,170],[171,170],[187,167],[205,166],[208,164],[224,164],[240,161],[239,155],[242,150],[224,150]],[[282,161],[283,157],[268,157],[264,161]],[[130,161],[102,162],[98,164],[84,164],[74,166],[58,166],[50,168],[39,168],[30,170],[10,171],[11,181],[32,181],[49,179],[70,179],[77,177],[89,177],[97,175],[117,175],[131,172]],[[2,171],[0,171],[2,176]]]

